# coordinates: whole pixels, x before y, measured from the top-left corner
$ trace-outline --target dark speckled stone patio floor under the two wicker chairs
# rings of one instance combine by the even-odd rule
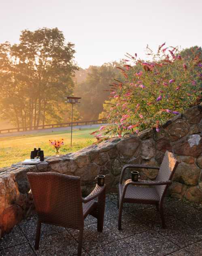
[[[97,232],[96,219],[85,219],[82,256],[201,256],[202,206],[165,198],[164,207],[167,229],[155,207],[125,204],[119,231],[116,195],[107,195],[103,233]],[[0,256],[77,255],[76,230],[43,224],[35,251],[35,229],[36,215],[21,221],[0,240]]]

